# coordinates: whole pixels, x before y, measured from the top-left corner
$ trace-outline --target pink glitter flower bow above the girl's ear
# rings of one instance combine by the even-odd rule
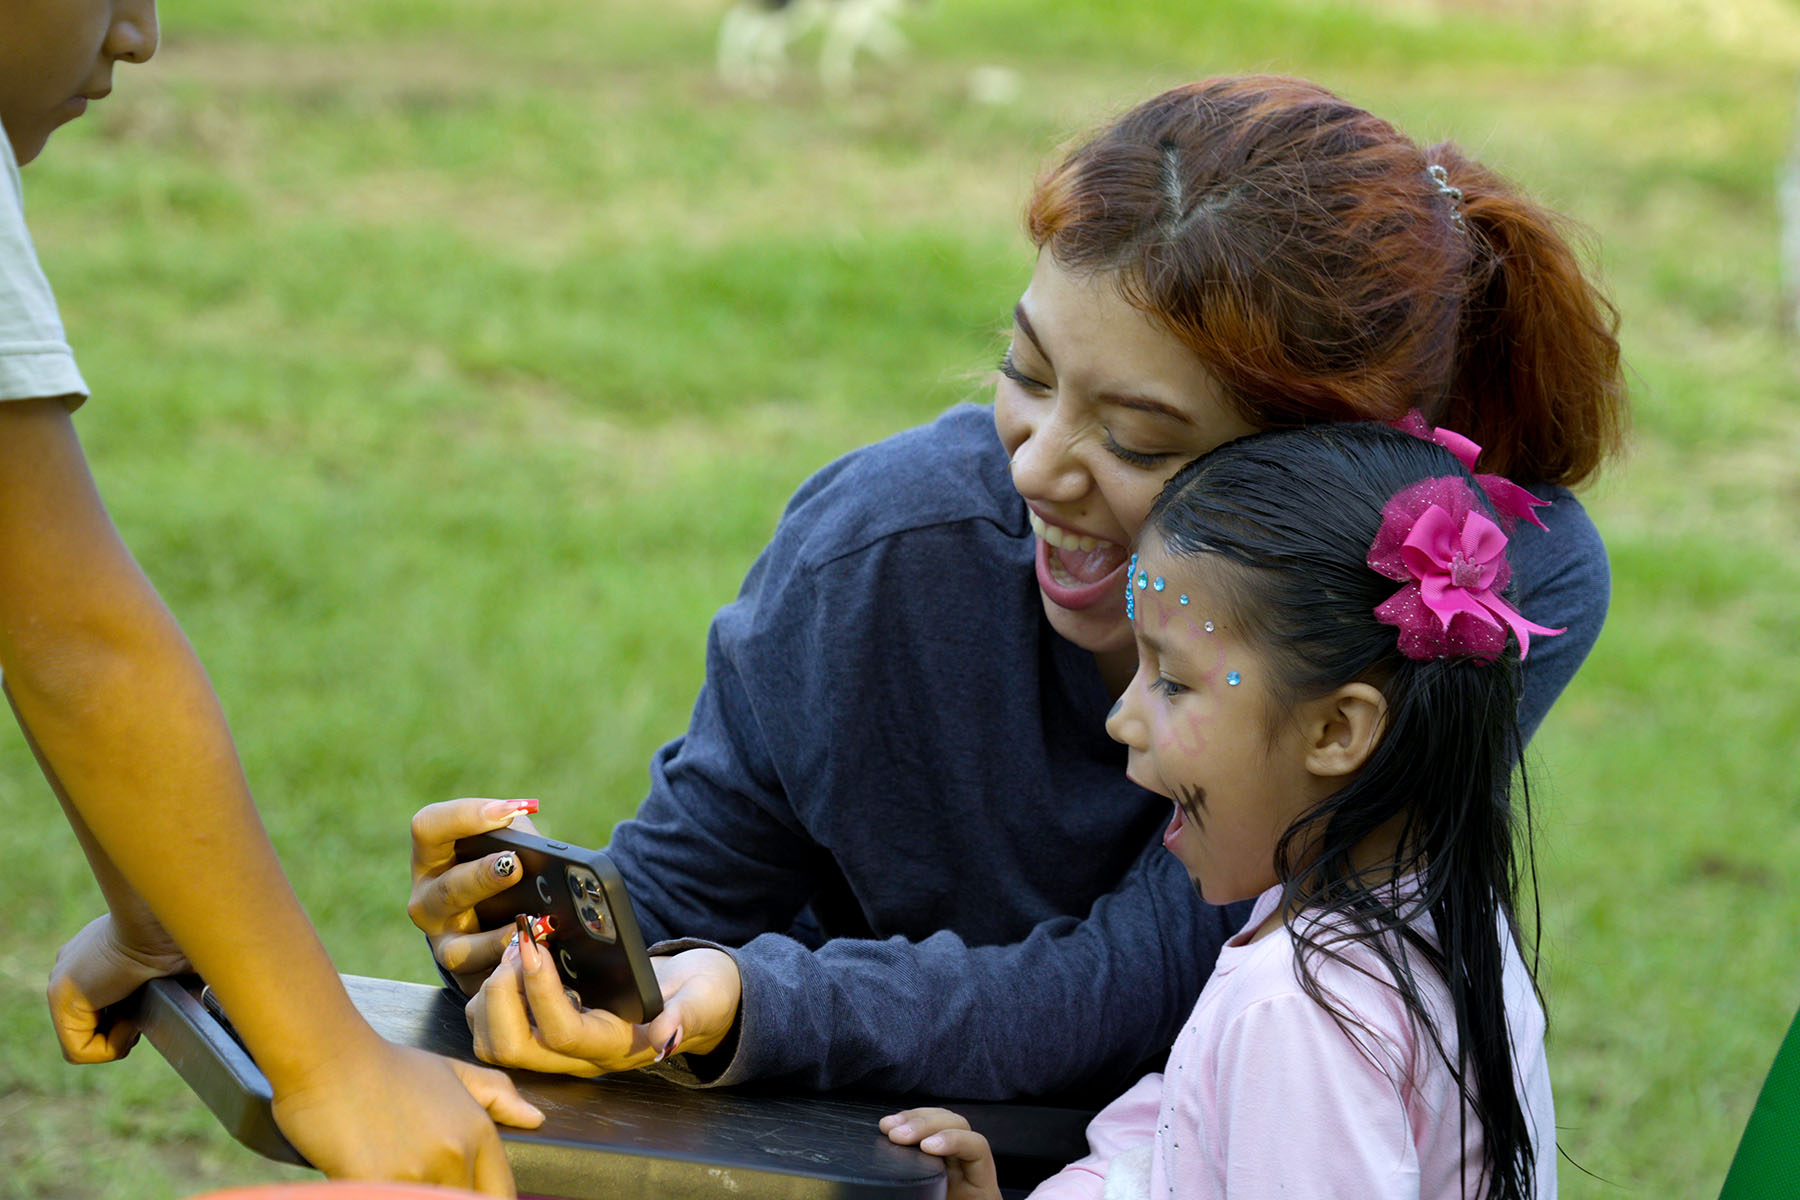
[[[1424,479],[1388,500],[1368,565],[1404,585],[1375,606],[1375,617],[1400,630],[1408,658],[1492,662],[1507,648],[1508,630],[1525,658],[1532,633],[1562,633],[1526,621],[1499,597],[1512,578],[1507,534],[1454,475]]]

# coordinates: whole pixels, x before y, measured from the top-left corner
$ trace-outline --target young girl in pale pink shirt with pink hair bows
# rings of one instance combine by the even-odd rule
[[[1521,500],[1382,425],[1246,437],[1165,488],[1107,730],[1201,896],[1255,907],[1163,1074],[1035,1195],[1555,1195],[1512,768],[1519,658],[1557,630],[1503,599]],[[956,1114],[882,1128],[997,1195]]]

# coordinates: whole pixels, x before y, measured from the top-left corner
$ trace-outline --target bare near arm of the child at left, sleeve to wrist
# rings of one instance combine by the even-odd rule
[[[212,685],[65,412],[0,405],[0,669],[108,901],[142,898],[277,1088],[374,1034],[288,885]],[[126,891],[121,891],[126,889]]]

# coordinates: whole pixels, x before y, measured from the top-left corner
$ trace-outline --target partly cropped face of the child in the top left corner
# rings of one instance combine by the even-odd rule
[[[157,0],[0,0],[0,124],[20,164],[157,52]]]

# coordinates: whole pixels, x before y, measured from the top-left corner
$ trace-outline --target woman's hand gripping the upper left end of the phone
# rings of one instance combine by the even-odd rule
[[[457,838],[513,828],[536,833],[527,811],[536,801],[491,801],[470,797],[427,804],[412,815],[412,900],[407,916],[425,930],[432,957],[457,977],[464,993],[481,988],[482,979],[500,961],[511,925],[482,930],[475,905],[499,896],[517,883],[517,862],[506,869],[509,855],[488,855],[457,862]],[[504,874],[502,874],[504,871]]]

